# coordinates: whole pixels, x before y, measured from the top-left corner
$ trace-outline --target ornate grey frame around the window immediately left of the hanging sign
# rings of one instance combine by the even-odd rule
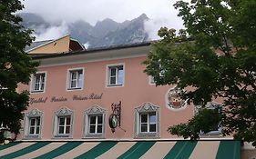
[[[85,120],[84,120],[84,137],[85,138],[104,138],[105,137],[105,117],[106,110],[98,105],[93,105],[85,111]],[[90,116],[99,116],[102,115],[102,133],[90,133]],[[97,127],[97,122],[96,122]],[[97,130],[97,129],[96,129]]]

